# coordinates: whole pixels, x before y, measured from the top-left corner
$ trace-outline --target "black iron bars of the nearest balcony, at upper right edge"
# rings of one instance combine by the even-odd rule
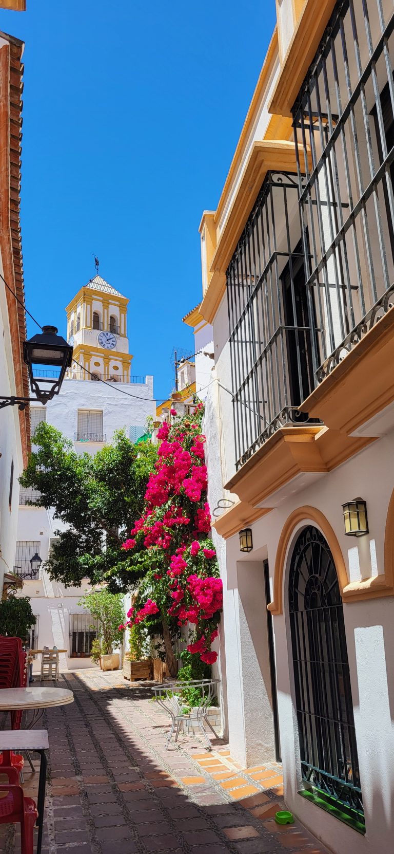
[[[392,0],[339,0],[293,108],[317,383],[394,305],[393,31]]]

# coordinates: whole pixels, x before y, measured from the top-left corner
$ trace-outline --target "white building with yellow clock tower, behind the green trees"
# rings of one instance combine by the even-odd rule
[[[95,313],[100,312],[99,317],[104,318],[102,322],[88,312],[90,301]],[[103,308],[107,301],[111,313]],[[67,308],[67,332],[79,365],[70,369],[60,394],[48,407],[31,407],[32,433],[39,421],[46,420],[71,440],[76,453],[91,454],[111,443],[115,430],[125,430],[133,442],[144,434],[147,419],[154,418],[156,411],[154,377],[130,374],[132,356],[126,336],[127,302],[101,277],[78,291],[72,301],[76,308],[71,312]],[[77,308],[78,330],[72,330],[74,317],[77,325]],[[119,323],[114,324],[112,317]],[[90,325],[93,322],[97,324],[94,329]],[[32,598],[32,611],[38,617],[32,629],[32,644],[36,648],[55,645],[66,650],[61,654],[64,668],[91,666],[89,653],[96,629],[90,615],[84,614],[78,606],[81,595],[89,592],[89,584],[86,582],[78,589],[65,588],[51,581],[39,560],[34,560],[38,555],[44,564],[55,530],[62,525],[53,518],[51,510],[27,505],[26,500],[32,498],[32,490],[20,488],[14,557],[14,572],[23,578],[23,594]],[[38,669],[38,664],[39,659],[33,670]]]

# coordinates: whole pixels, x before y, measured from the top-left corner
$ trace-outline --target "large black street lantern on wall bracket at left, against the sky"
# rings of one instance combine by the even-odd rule
[[[23,359],[30,388],[36,397],[0,397],[0,409],[14,406],[25,409],[30,401],[44,405],[58,395],[67,368],[72,364],[72,347],[57,334],[55,326],[43,326],[42,332],[24,342]]]

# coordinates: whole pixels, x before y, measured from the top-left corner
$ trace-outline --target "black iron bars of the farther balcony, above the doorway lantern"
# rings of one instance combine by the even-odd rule
[[[237,468],[313,387],[298,178],[268,173],[227,270]]]

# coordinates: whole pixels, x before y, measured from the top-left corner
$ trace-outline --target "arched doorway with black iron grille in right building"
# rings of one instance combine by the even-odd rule
[[[289,612],[305,792],[363,825],[343,605],[330,547],[312,525],[293,547]]]

